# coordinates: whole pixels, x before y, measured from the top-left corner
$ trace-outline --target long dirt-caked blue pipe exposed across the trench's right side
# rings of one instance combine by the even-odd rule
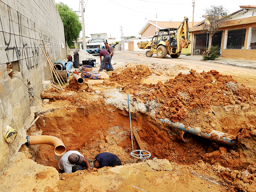
[[[188,132],[206,139],[210,139],[213,141],[218,141],[220,143],[226,144],[226,145],[231,145],[231,146],[236,146],[235,142],[236,142],[236,136],[234,135],[230,135],[228,133],[223,133],[223,132],[219,132],[219,131],[215,131],[213,130],[210,133],[204,133],[202,132],[201,128],[199,127],[186,127],[185,125],[183,125],[182,123],[173,123],[170,119],[158,119],[159,121],[161,121],[162,123],[167,123],[169,127],[173,127],[179,130],[182,130],[184,132]]]

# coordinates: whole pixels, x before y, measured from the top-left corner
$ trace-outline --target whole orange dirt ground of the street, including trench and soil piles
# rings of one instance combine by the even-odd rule
[[[100,80],[77,84],[70,74],[65,91],[44,90],[49,102],[38,104],[28,135],[58,137],[91,160],[111,152],[123,165],[60,174],[52,146],[22,145],[0,176],[3,191],[256,191],[256,69],[131,52],[115,52],[112,63]],[[129,108],[150,159],[130,155]],[[233,145],[220,142],[226,136]]]

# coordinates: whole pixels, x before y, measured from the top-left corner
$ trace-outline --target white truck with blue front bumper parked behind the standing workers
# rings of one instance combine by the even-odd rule
[[[108,42],[113,49],[113,53],[115,51],[116,46],[116,39],[109,38],[107,33],[97,33],[97,34],[90,34],[92,36],[92,40],[90,43],[86,44],[86,51],[88,53],[100,53],[99,49],[105,49],[105,42]]]

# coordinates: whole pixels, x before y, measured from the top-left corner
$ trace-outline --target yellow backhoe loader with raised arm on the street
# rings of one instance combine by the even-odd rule
[[[182,34],[182,32],[184,32],[184,34]],[[182,36],[185,36],[185,39],[183,39]],[[158,35],[154,36],[150,42],[141,41],[138,43],[138,47],[140,49],[148,49],[146,51],[147,57],[152,57],[153,54],[156,54],[158,58],[165,58],[168,54],[172,58],[178,58],[182,48],[188,48],[190,43],[188,18],[184,17],[179,28],[160,29]]]

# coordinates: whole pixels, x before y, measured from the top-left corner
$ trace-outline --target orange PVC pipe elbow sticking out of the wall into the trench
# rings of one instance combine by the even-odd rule
[[[62,156],[66,152],[66,147],[64,143],[57,137],[49,135],[38,135],[38,136],[28,136],[28,146],[37,144],[48,144],[54,147],[54,153],[57,156]]]

